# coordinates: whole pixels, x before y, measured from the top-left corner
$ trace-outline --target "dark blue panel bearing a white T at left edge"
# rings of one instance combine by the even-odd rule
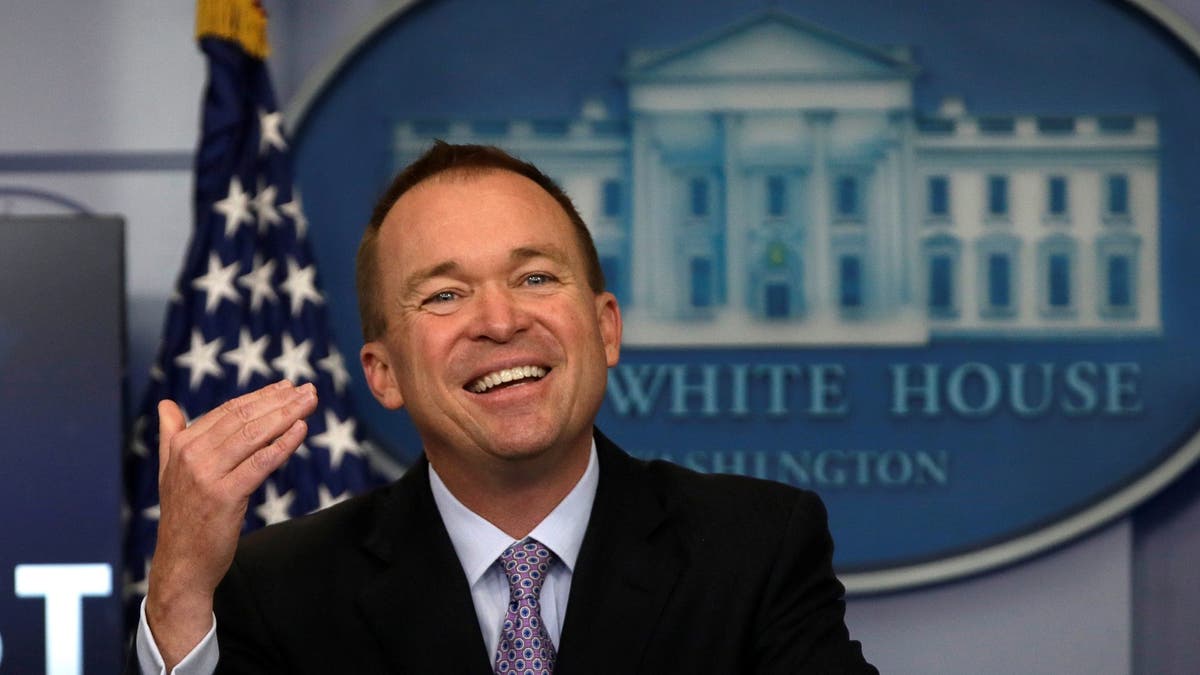
[[[116,673],[124,222],[0,219],[0,671]]]

